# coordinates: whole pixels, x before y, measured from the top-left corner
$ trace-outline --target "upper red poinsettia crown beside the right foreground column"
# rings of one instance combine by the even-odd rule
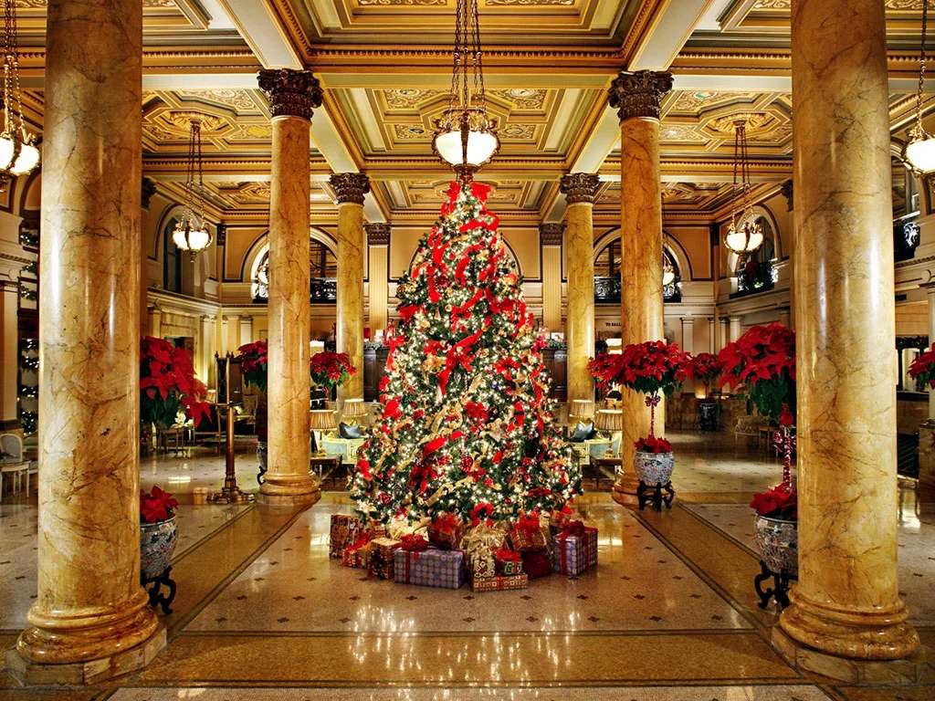
[[[722,382],[742,388],[762,416],[782,426],[796,418],[796,334],[781,323],[754,326],[728,343],[717,361]]]

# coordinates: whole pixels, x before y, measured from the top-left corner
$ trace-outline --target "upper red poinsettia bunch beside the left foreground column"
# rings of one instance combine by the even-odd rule
[[[143,336],[139,358],[140,420],[171,426],[185,408],[197,426],[208,413],[205,385],[194,377],[192,353],[162,338]]]

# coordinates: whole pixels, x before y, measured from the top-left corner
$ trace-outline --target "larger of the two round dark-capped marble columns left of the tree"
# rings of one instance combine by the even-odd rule
[[[269,196],[269,379],[266,481],[260,500],[317,501],[309,475],[309,131],[322,89],[309,71],[261,70],[272,107]]]

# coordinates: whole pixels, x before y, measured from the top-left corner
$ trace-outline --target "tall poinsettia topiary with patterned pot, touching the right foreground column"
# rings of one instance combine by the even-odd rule
[[[718,353],[722,381],[740,390],[747,410],[755,407],[778,427],[773,445],[783,459],[783,481],[750,502],[755,540],[772,572],[798,574],[798,513],[792,479],[796,447],[796,335],[781,323],[754,326]]]

